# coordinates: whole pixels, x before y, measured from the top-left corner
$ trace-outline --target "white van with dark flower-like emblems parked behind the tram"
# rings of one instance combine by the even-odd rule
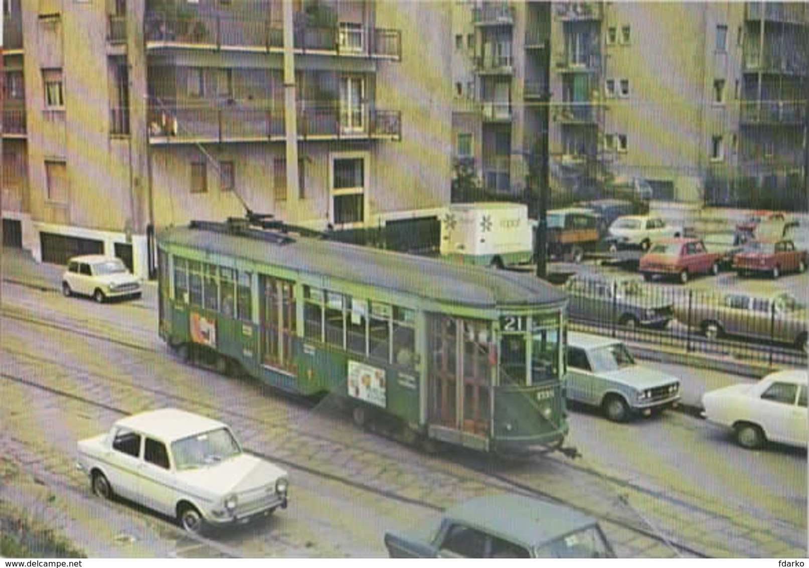
[[[528,264],[532,235],[521,203],[454,203],[441,219],[441,256],[497,268]]]

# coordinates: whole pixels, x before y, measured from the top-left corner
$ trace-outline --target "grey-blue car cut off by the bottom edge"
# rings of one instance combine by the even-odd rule
[[[468,499],[432,523],[386,532],[392,558],[614,558],[599,523],[523,495]]]

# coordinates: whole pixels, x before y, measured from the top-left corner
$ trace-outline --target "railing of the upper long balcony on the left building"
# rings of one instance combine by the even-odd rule
[[[146,15],[146,42],[156,45],[210,46],[229,49],[283,48],[280,23],[261,19],[199,15],[188,19],[161,13]],[[401,32],[385,28],[340,28],[296,23],[294,47],[303,52],[401,58]]]

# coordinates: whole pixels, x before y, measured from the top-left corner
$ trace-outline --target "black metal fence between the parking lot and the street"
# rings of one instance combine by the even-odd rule
[[[703,292],[604,278],[576,278],[567,286],[575,331],[769,367],[807,364],[805,307],[786,293]]]

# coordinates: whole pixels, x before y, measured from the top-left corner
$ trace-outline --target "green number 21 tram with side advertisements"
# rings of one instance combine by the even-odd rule
[[[187,360],[337,394],[428,449],[561,447],[566,296],[537,278],[233,220],[157,248],[160,337]]]

